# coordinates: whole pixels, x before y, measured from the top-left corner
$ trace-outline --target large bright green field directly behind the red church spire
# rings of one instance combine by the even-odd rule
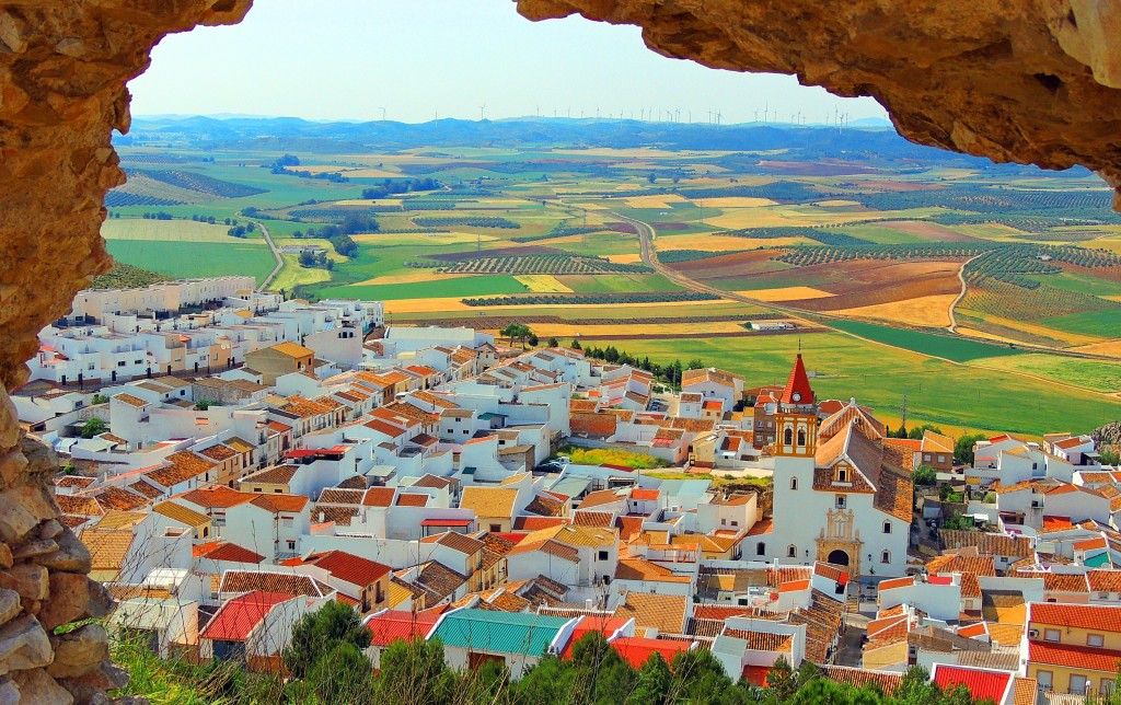
[[[798,341],[790,335],[714,340],[595,341],[665,364],[693,359],[739,372],[747,386],[781,384],[790,372]],[[979,430],[1041,435],[1087,432],[1121,418],[1121,399],[1058,388],[1010,372],[952,364],[840,333],[802,336],[806,368],[822,399],[855,397],[898,415],[907,395],[910,423],[929,421]],[[1017,360],[1010,358],[1008,360]]]

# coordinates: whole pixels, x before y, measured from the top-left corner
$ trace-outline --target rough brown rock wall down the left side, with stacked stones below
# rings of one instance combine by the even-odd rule
[[[240,21],[250,0],[0,0],[0,703],[105,702],[104,588],[58,522],[54,453],[25,436],[4,389],[26,379],[36,334],[105,271],[105,192],[124,180],[110,146],[129,127],[124,83],[159,39]]]

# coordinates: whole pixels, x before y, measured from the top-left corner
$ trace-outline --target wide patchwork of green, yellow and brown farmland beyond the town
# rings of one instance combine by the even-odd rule
[[[165,276],[260,280],[272,260],[259,229],[230,234],[254,222],[289,248],[272,288],[385,300],[396,324],[524,321],[541,344],[622,336],[651,359],[744,373],[802,344],[847,370],[825,383],[837,395],[867,355],[882,371],[870,402],[907,393],[915,418],[963,427],[1007,410],[951,418],[911,377],[1026,405],[1039,399],[1028,380],[1045,380],[1085,396],[1087,423],[1121,414],[1121,217],[1088,174],[797,147],[316,143],[281,169],[281,151],[189,141],[121,152],[110,251]],[[330,257],[302,266],[300,247]],[[765,334],[759,317],[789,327]]]

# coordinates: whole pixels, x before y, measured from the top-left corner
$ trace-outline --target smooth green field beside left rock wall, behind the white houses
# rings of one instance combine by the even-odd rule
[[[118,260],[179,279],[248,275],[260,284],[276,265],[262,241],[226,238],[229,243],[110,240]]]

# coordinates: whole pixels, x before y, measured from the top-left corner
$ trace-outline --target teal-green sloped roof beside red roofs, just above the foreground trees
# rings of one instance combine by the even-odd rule
[[[543,614],[457,610],[444,616],[433,636],[444,646],[472,651],[543,656],[568,621]]]

